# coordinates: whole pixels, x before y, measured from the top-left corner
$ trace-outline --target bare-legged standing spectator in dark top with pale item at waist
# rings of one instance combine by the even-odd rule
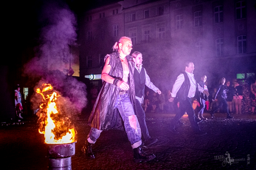
[[[234,81],[234,94],[233,100],[235,103],[236,114],[242,114],[241,107],[242,107],[242,99],[243,99],[243,87],[240,86],[237,80]]]

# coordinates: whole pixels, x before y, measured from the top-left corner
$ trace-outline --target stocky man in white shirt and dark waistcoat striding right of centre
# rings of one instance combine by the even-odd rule
[[[192,107],[191,98],[195,96],[195,93],[197,89],[201,92],[206,94],[207,96],[209,93],[205,91],[201,86],[199,86],[195,80],[194,77],[194,63],[193,62],[186,62],[185,63],[185,71],[181,73],[177,80],[175,81],[172,89],[172,97],[169,99],[169,102],[173,102],[174,98],[178,98],[178,101],[180,102],[179,112],[176,114],[176,116],[173,118],[170,124],[170,131],[174,134],[177,134],[178,132],[175,130],[175,127],[177,125],[177,122],[180,120],[180,118],[187,112],[188,119],[192,125],[192,129],[196,134],[199,135],[205,135],[206,132],[202,132],[196,117],[195,117],[195,111]]]

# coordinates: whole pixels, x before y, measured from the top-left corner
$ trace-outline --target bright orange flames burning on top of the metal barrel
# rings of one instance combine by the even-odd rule
[[[60,97],[53,91],[51,84],[43,84],[43,89],[36,89],[41,94],[42,104],[37,112],[40,127],[39,133],[44,134],[46,144],[68,144],[75,142],[76,130],[68,117],[59,111],[55,101]],[[59,110],[59,111],[58,111]]]

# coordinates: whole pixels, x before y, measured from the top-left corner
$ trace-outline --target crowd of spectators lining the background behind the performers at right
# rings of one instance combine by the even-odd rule
[[[256,81],[253,82],[233,79],[225,82],[227,86],[227,104],[229,113],[232,114],[256,114]],[[249,93],[246,91],[249,91]],[[218,106],[218,100],[212,101],[216,93],[216,87],[209,89],[209,100],[205,103],[204,112],[210,113],[210,111]],[[169,102],[168,99],[171,97],[171,90],[162,91],[161,94],[155,93],[152,90],[145,91],[144,102],[142,107],[145,112],[158,112],[158,113],[176,113],[179,108],[178,101]],[[247,99],[247,100],[246,100]],[[197,99],[192,101],[194,109],[196,110],[200,104]],[[221,107],[217,112],[223,113]]]

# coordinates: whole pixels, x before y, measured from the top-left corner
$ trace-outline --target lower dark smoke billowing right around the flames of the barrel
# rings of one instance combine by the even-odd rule
[[[35,93],[35,91],[37,88],[41,89],[44,83],[50,83],[54,90],[60,93],[62,98],[58,100],[61,101],[59,106],[66,110],[65,112],[67,113],[81,112],[88,102],[86,98],[86,85],[84,83],[72,76],[66,76],[59,70],[53,70],[47,72],[34,87],[34,93],[31,97],[33,110],[38,109],[42,102],[41,96]]]

